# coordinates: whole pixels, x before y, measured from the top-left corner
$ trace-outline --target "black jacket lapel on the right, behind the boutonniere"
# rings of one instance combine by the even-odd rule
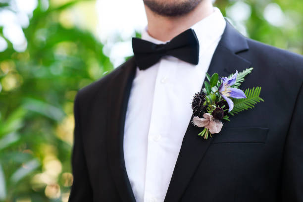
[[[227,22],[207,72],[210,75],[216,72],[219,76],[226,77],[230,73],[234,73],[236,69],[240,72],[249,68],[251,63],[237,55],[237,53],[248,49],[246,38]],[[204,88],[204,85],[202,88]],[[165,202],[181,200],[186,187],[202,161],[213,138],[204,140],[198,136],[201,131],[201,128],[194,126],[191,122],[189,123],[166,193]]]

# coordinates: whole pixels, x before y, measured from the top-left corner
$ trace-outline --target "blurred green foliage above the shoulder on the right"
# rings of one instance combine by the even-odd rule
[[[302,0],[216,0],[215,5],[221,9],[224,16],[230,17],[239,28],[237,20],[229,16],[228,10],[235,4],[247,4],[251,10],[247,20],[242,23],[247,28],[248,36],[254,40],[269,44],[281,49],[291,50],[303,54],[303,2]],[[278,7],[279,9],[272,9]],[[265,10],[271,12],[269,17],[280,22],[279,26],[274,26],[264,19]],[[235,12],[243,11],[240,6]],[[280,19],[281,18],[281,19]]]

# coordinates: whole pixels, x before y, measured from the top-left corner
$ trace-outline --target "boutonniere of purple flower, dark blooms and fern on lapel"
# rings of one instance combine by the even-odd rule
[[[219,133],[222,129],[223,120],[229,121],[230,115],[254,107],[257,102],[263,101],[259,97],[261,87],[253,87],[243,92],[239,89],[245,76],[250,74],[253,68],[245,69],[243,72],[221,77],[214,73],[210,76],[206,73],[208,80],[204,82],[205,88],[196,93],[192,101],[193,120],[195,126],[203,128],[198,135],[205,140],[208,135]]]

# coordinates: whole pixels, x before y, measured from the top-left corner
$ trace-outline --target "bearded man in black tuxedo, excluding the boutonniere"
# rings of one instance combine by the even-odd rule
[[[211,0],[144,0],[134,56],[75,99],[70,202],[303,202],[303,57],[242,36]],[[205,73],[253,67],[264,102],[204,140]]]

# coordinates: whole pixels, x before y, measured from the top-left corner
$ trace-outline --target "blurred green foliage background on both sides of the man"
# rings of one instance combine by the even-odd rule
[[[87,30],[64,26],[62,12],[74,0],[48,9],[39,0],[27,28],[27,49],[8,41],[0,52],[0,201],[65,202],[72,183],[73,101],[77,91],[113,69],[103,45]],[[246,0],[251,14],[242,22],[258,41],[303,53],[302,0]],[[236,0],[217,0],[224,15]],[[289,19],[269,24],[263,11],[281,6]],[[10,0],[0,3],[8,9]],[[228,12],[227,12],[228,14]],[[289,25],[288,22],[293,22]],[[0,36],[4,38],[2,27]]]

